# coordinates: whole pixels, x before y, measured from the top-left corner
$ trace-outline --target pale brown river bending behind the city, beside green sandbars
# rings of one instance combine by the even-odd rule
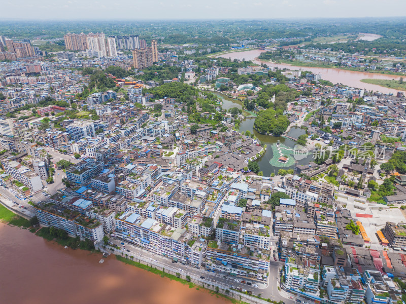
[[[368,91],[371,91],[371,90],[379,91],[381,93],[393,93],[395,95],[397,93],[397,90],[394,90],[394,89],[363,83],[363,82],[361,82],[361,79],[370,78],[370,79],[385,79],[385,80],[395,79],[395,80],[398,80],[400,78],[400,76],[350,71],[350,70],[343,70],[343,69],[339,69],[339,68],[294,66],[294,65],[285,64],[285,63],[277,64],[277,63],[270,63],[268,61],[260,61],[260,60],[255,59],[262,52],[264,52],[264,51],[251,50],[251,51],[246,51],[246,52],[228,53],[228,54],[220,55],[217,57],[231,58],[231,60],[234,60],[234,59],[252,60],[254,63],[258,63],[258,64],[265,63],[268,66],[278,67],[281,69],[288,68],[288,69],[293,69],[293,70],[294,69],[309,70],[309,71],[312,71],[313,73],[321,73],[321,78],[323,80],[328,80],[328,81],[332,82],[333,84],[341,83],[341,84],[349,86],[349,87],[365,89]]]

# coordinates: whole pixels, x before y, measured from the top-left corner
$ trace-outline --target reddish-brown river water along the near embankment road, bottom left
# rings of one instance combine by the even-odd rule
[[[0,223],[2,304],[226,304],[208,292]]]

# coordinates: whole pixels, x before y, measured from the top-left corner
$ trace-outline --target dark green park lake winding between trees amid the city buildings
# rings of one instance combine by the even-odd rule
[[[223,101],[222,108],[223,109],[230,109],[232,107],[238,107],[239,109],[242,109],[242,102],[236,99],[228,98],[218,92],[214,92],[215,95],[220,97]],[[266,152],[257,160],[259,168],[263,172],[264,176],[269,176],[271,173],[278,173],[279,169],[293,169],[294,165],[289,166],[289,167],[274,167],[272,166],[269,161],[273,158],[273,151],[271,146],[273,144],[276,144],[278,139],[280,142],[284,145],[286,145],[289,148],[293,148],[296,145],[296,142],[285,137],[275,137],[275,136],[269,136],[269,135],[263,135],[259,134],[255,129],[254,129],[254,121],[255,118],[246,118],[244,119],[241,124],[240,124],[240,132],[246,132],[247,130],[250,131],[251,133],[254,133],[254,135],[264,144],[266,144],[267,149]],[[288,136],[291,136],[293,138],[298,138],[299,135],[305,134],[306,131],[303,129],[300,129],[298,127],[291,127]],[[312,161],[313,155],[310,154],[307,158],[304,158],[300,161],[297,162],[299,165],[304,165],[308,164],[310,161]]]

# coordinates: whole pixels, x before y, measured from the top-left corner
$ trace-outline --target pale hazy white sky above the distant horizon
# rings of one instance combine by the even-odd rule
[[[406,16],[406,0],[1,0],[7,19],[278,19]]]

